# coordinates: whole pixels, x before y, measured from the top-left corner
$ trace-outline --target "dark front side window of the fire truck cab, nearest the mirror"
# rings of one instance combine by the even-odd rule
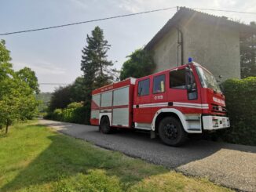
[[[185,69],[170,71],[170,88],[186,89]]]

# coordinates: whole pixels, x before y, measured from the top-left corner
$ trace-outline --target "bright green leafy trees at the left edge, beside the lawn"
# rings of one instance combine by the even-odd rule
[[[12,64],[9,63],[10,60],[5,42],[1,41],[0,125],[5,125],[6,133],[13,121],[33,118],[37,113],[38,106],[38,102],[35,100],[36,87],[38,87],[35,72],[27,67],[15,72]],[[35,85],[35,87],[31,87],[31,85]]]

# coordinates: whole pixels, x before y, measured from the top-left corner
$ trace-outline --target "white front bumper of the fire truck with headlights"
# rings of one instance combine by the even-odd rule
[[[204,130],[217,130],[230,127],[228,117],[221,116],[203,116],[203,129]]]

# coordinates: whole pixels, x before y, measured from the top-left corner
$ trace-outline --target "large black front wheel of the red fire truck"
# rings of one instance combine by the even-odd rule
[[[158,132],[163,143],[174,147],[181,146],[188,137],[181,122],[174,117],[163,118],[159,123]]]

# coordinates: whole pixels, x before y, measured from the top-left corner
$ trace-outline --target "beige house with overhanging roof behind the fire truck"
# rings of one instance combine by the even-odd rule
[[[240,78],[240,38],[255,32],[224,16],[181,7],[144,49],[154,54],[155,72],[188,63],[192,57],[224,81]]]

